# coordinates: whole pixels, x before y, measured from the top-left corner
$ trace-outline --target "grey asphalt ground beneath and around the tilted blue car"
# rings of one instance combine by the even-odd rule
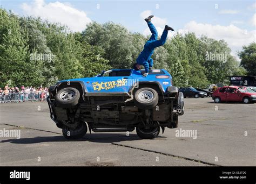
[[[256,166],[255,103],[185,98],[178,128],[152,140],[136,131],[66,140],[49,115],[46,102],[0,104],[0,130],[21,131],[0,137],[0,166]]]

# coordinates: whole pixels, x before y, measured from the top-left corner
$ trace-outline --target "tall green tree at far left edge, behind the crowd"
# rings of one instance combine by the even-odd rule
[[[28,61],[28,45],[21,34],[21,27],[16,15],[0,9],[0,85],[12,81],[14,86],[31,84],[35,76]],[[26,83],[24,83],[26,81]]]

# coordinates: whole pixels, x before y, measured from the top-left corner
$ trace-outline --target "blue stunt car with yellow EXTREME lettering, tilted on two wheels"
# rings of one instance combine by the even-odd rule
[[[160,128],[177,128],[184,114],[183,93],[172,86],[165,69],[112,69],[95,77],[58,81],[47,98],[51,119],[67,139],[89,131],[126,132],[136,128],[143,139]],[[88,128],[87,128],[88,127]]]

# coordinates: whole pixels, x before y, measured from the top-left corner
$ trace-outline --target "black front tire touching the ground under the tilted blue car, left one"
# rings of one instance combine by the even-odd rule
[[[79,139],[84,137],[87,132],[87,125],[85,122],[80,122],[76,129],[68,128],[63,126],[62,133],[66,139]]]

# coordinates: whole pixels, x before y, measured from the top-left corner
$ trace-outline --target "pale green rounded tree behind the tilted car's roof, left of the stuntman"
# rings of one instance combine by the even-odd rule
[[[104,58],[113,68],[131,68],[138,48],[145,44],[139,34],[133,36],[124,26],[112,22],[102,25],[92,22],[82,34],[87,43],[104,49]],[[139,40],[138,45],[135,40]]]

